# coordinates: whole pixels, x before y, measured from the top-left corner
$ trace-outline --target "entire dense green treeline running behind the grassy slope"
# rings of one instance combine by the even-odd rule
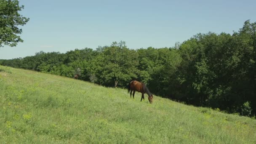
[[[129,49],[113,42],[96,50],[43,51],[0,60],[1,65],[32,69],[126,88],[131,80],[159,96],[240,115],[256,114],[256,22],[245,21],[232,35],[197,34],[172,48]]]

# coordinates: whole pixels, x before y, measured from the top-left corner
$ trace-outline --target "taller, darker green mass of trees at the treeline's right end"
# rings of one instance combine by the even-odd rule
[[[245,21],[233,35],[197,34],[181,44],[179,79],[187,102],[242,114],[251,101],[255,112],[255,29]]]

